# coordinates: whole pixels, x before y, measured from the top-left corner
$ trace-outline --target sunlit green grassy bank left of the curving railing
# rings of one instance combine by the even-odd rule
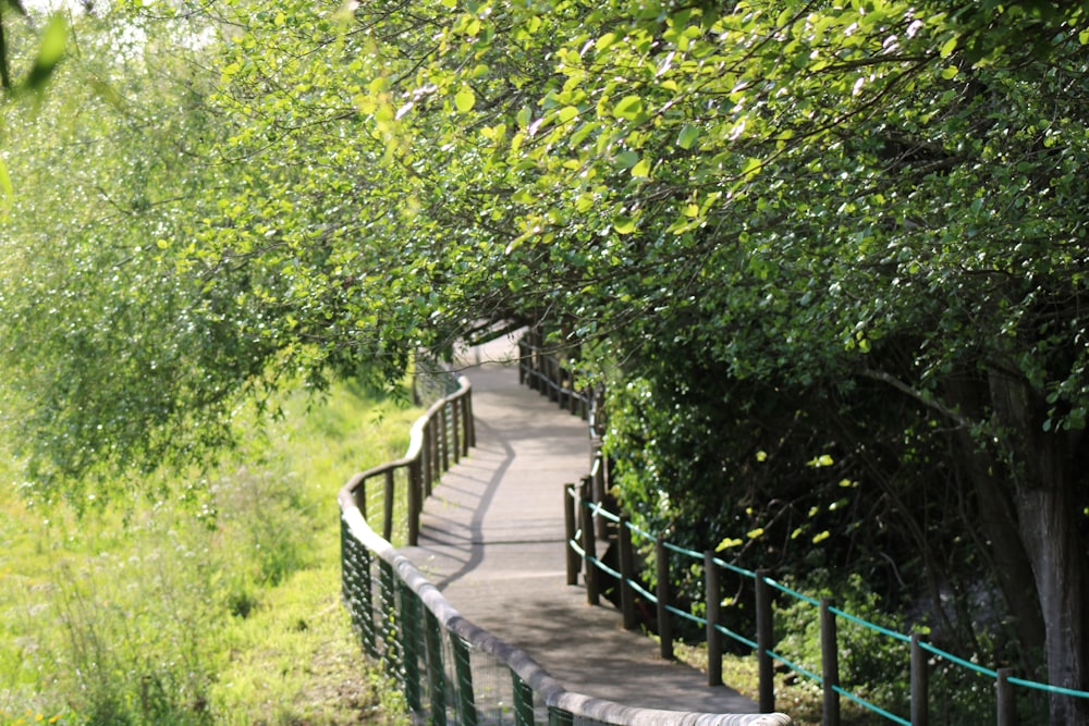
[[[339,600],[335,494],[418,411],[353,386],[285,408],[184,504],[175,475],[83,518],[28,507],[0,463],[0,724],[405,722]]]

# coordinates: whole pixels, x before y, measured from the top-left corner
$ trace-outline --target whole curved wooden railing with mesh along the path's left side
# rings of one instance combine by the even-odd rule
[[[356,475],[339,495],[342,593],[353,628],[417,718],[433,726],[788,726],[782,714],[637,709],[568,691],[527,653],[461,616],[390,539],[392,522],[402,518],[405,541],[415,543],[425,490],[473,442],[472,389],[462,378],[456,393],[413,426],[405,457]],[[368,504],[372,479],[383,487],[372,497],[379,501]],[[368,512],[381,522],[381,534],[368,524]]]

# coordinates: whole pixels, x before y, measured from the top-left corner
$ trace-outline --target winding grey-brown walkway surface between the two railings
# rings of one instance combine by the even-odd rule
[[[502,357],[503,347],[479,352]],[[514,365],[466,371],[477,446],[424,507],[419,546],[404,551],[457,611],[525,650],[573,692],[626,705],[756,713],[727,687],[658,657],[607,601],[566,585],[563,484],[590,463],[587,424],[518,384]]]

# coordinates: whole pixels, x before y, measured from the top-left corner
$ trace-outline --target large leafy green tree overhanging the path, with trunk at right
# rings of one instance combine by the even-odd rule
[[[137,419],[162,441],[216,409],[210,392],[299,370],[394,379],[417,346],[540,325],[612,366],[617,410],[624,383],[714,403],[611,432],[616,451],[644,443],[620,492],[644,516],[744,506],[750,484],[722,464],[776,465],[778,431],[745,429],[764,415],[794,427],[792,478],[754,512],[831,471],[824,491],[861,482],[859,506],[914,502],[900,541],[920,541],[916,513],[941,506],[935,482],[956,484],[1026,649],[1042,645],[1051,682],[1086,688],[1080,7],[235,2],[196,16],[222,40],[206,56],[222,133],[204,157],[223,183],[194,207],[206,221],[156,235],[200,311],[186,384],[134,404],[171,404]],[[197,342],[223,355],[189,355]],[[876,401],[895,405],[871,418]],[[709,426],[737,453],[710,457],[692,435]],[[695,443],[659,463],[710,457],[699,487],[636,468],[666,436]],[[835,466],[806,466],[833,451]],[[1052,697],[1055,723],[1085,711]]]

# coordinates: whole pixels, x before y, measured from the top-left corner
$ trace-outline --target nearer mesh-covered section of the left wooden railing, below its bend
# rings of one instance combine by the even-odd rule
[[[344,603],[362,647],[401,686],[418,723],[784,726],[782,714],[637,709],[565,690],[525,652],[462,617],[356,507],[342,513]]]

